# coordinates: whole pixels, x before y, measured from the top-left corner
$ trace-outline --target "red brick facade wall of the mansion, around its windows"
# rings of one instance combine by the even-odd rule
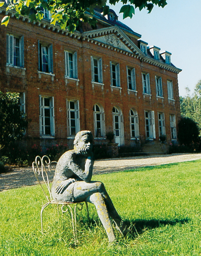
[[[0,15],[2,19],[3,15]],[[6,69],[6,34],[24,35],[25,49],[25,75],[21,70]],[[53,73],[51,76],[38,75],[38,40],[53,45]],[[136,42],[137,43],[137,42]],[[179,93],[177,74],[165,71],[139,59],[126,54],[76,39],[74,36],[66,36],[48,28],[33,25],[31,23],[11,19],[8,27],[0,26],[0,90],[26,92],[26,112],[30,119],[27,129],[27,137],[30,139],[40,138],[39,129],[39,95],[54,96],[55,105],[55,141],[67,141],[67,114],[66,99],[79,100],[80,129],[94,132],[93,127],[93,105],[102,104],[105,110],[106,133],[113,130],[112,109],[119,106],[124,116],[125,144],[130,145],[130,123],[129,110],[135,108],[139,115],[140,138],[145,140],[145,110],[154,110],[156,140],[158,140],[158,116],[157,112],[165,113],[166,135],[170,140],[169,114],[176,114],[176,121],[180,118]],[[77,51],[78,79],[65,83],[64,50]],[[91,61],[90,56],[102,57],[104,89],[101,86],[91,85]],[[111,91],[110,61],[120,63],[120,78],[122,92],[119,89]],[[127,91],[126,66],[135,68],[137,95]],[[150,74],[151,99],[143,96],[142,72]],[[162,77],[164,101],[156,98],[155,76]],[[173,81],[175,104],[168,102],[167,79]],[[68,140],[72,145],[72,140]]]

